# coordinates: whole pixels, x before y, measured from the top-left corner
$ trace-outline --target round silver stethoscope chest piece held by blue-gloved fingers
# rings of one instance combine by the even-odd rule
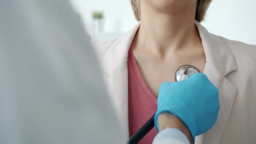
[[[175,81],[186,80],[191,75],[199,73],[199,70],[191,65],[184,65],[175,72]]]

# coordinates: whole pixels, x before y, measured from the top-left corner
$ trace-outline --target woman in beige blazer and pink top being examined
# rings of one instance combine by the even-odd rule
[[[216,124],[195,143],[256,143],[256,46],[209,33],[200,21],[210,3],[131,0],[140,22],[100,47],[105,80],[127,139],[156,112],[160,84],[174,82],[176,70],[189,64],[219,89],[221,103]],[[152,143],[156,134],[152,129],[140,144]]]

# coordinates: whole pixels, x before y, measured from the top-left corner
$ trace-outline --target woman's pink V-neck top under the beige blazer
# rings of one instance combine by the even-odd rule
[[[157,110],[157,99],[141,77],[131,48],[128,53],[128,94],[129,134],[131,137]],[[156,134],[157,131],[152,128],[138,144],[152,144]]]

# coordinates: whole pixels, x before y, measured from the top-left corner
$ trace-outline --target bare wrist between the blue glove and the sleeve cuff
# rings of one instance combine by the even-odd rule
[[[163,113],[158,116],[158,127],[159,131],[166,128],[176,128],[187,136],[191,144],[193,143],[192,135],[187,125],[171,113]]]

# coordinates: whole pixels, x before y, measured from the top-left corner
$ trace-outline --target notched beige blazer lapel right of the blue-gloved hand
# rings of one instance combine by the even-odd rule
[[[236,64],[232,52],[221,37],[210,34],[197,21],[196,26],[206,56],[204,73],[219,89],[220,111],[213,128],[202,136],[196,137],[195,144],[219,144],[237,91],[236,87],[225,76],[236,70]]]

